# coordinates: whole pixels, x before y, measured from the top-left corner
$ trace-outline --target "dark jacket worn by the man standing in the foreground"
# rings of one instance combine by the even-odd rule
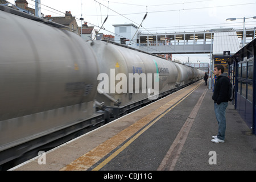
[[[218,76],[214,84],[214,92],[212,96],[214,103],[221,104],[221,102],[228,102],[228,91],[229,78],[224,75]]]

